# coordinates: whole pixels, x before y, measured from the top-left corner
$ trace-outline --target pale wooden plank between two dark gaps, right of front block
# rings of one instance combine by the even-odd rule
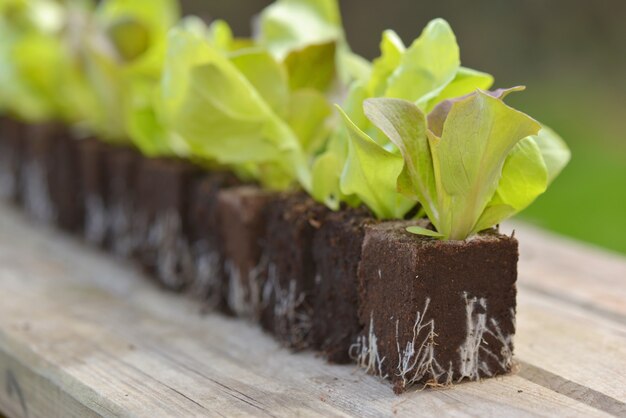
[[[626,416],[626,327],[524,292],[518,313],[516,355],[522,377],[573,393],[569,386],[597,408]]]

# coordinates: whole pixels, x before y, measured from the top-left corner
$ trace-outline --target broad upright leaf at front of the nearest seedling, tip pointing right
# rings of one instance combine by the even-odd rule
[[[435,224],[439,232],[450,239],[476,232],[508,154],[540,128],[527,115],[480,91],[452,105],[441,138],[429,132],[439,191]]]

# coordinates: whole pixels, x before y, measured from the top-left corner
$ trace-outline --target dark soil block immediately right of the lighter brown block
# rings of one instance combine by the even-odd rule
[[[261,324],[294,350],[313,345],[313,237],[328,212],[301,193],[282,195],[268,205]]]

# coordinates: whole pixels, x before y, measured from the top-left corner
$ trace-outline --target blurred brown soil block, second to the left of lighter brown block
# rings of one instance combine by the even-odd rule
[[[143,158],[137,181],[135,234],[144,270],[166,288],[182,290],[193,278],[183,222],[192,179],[200,169],[183,160]]]

